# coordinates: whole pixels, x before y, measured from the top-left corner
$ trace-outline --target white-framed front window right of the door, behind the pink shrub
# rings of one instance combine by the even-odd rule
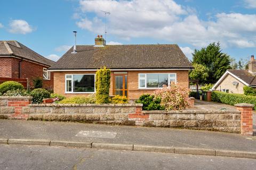
[[[177,83],[176,73],[139,73],[139,89],[156,89]]]

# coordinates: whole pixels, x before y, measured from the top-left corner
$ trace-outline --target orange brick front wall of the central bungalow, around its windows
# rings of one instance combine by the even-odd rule
[[[138,99],[142,94],[153,94],[155,89],[138,89],[138,74],[139,73],[177,73],[177,82],[188,87],[188,71],[127,71],[127,87],[128,98]],[[54,92],[71,96],[87,96],[89,94],[65,94],[65,74],[95,74],[95,72],[54,72]],[[113,95],[113,76],[114,72],[111,72],[110,79],[110,95]]]

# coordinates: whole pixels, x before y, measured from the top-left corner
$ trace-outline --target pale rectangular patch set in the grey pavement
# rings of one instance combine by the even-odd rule
[[[116,132],[102,132],[102,131],[80,131],[76,137],[89,137],[89,138],[110,138],[116,137]]]

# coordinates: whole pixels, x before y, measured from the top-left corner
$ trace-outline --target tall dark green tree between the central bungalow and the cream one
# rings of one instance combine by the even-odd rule
[[[220,43],[211,43],[193,53],[193,63],[209,69],[207,83],[215,83],[227,69],[231,69],[230,62],[229,55],[221,52]]]

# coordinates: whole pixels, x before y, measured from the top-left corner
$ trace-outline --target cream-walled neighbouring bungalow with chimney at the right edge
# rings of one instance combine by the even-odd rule
[[[251,56],[248,63],[249,70],[227,70],[222,77],[214,84],[213,90],[244,94],[243,87],[256,87],[256,60]]]

